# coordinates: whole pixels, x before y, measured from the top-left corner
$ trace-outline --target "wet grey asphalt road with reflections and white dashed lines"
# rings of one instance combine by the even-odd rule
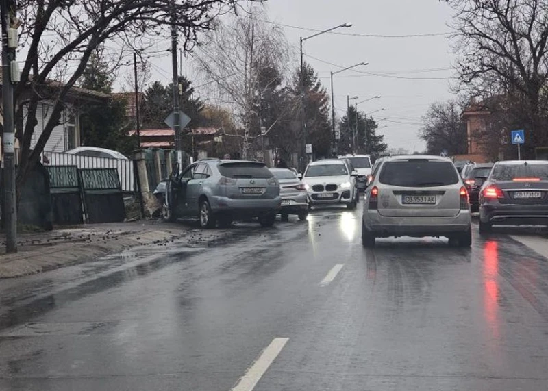
[[[371,251],[360,216],[1,281],[0,390],[548,389],[548,261],[519,231]]]

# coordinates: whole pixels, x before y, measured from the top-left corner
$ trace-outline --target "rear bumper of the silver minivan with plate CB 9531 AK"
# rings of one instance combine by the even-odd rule
[[[469,231],[471,214],[462,210],[453,217],[386,217],[377,211],[364,214],[364,229],[375,236],[449,236]]]

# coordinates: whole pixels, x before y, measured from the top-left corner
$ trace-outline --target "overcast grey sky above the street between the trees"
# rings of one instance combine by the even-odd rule
[[[271,21],[284,25],[328,29],[349,21],[353,27],[337,32],[388,36],[447,33],[451,19],[450,8],[438,0],[269,0],[267,10]],[[284,27],[284,31],[296,51],[299,36],[314,34],[291,27]],[[307,40],[304,52],[328,91],[329,72],[339,69],[335,65],[369,62],[369,66],[357,69],[376,75],[353,71],[336,75],[335,106],[342,116],[347,95],[358,95],[360,100],[381,95],[381,99],[362,103],[360,110],[369,113],[386,108],[372,115],[389,147],[422,151],[424,143],[416,136],[421,116],[429,103],[452,96],[449,83],[454,76],[450,69],[454,57],[445,35],[380,38],[323,34]],[[169,78],[171,62],[166,54],[165,58],[153,59],[153,80]],[[191,69],[185,73],[192,77]]]

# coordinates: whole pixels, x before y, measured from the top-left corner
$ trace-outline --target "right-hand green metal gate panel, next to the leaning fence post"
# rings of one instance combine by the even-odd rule
[[[88,223],[116,223],[125,219],[125,206],[116,168],[80,170]]]

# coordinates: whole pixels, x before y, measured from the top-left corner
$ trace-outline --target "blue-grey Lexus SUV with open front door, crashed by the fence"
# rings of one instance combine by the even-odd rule
[[[282,202],[264,163],[219,159],[199,160],[172,177],[165,199],[164,220],[198,218],[202,228],[254,217],[271,227]]]

